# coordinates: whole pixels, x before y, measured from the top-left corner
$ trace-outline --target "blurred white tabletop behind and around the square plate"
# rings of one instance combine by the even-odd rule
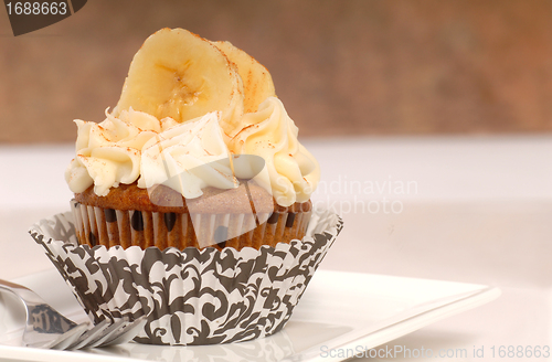
[[[489,305],[388,345],[468,351],[485,347],[487,352],[492,345],[552,345],[552,137],[367,138],[305,145],[320,161],[327,184],[339,177],[381,183],[391,175],[418,185],[415,194],[358,194],[368,202],[400,200],[404,209],[399,214],[341,212],[343,232],[321,268],[502,289]],[[0,178],[0,277],[51,267],[26,230],[68,209],[63,170],[71,157],[72,146],[0,148],[0,167],[10,174]],[[332,192],[315,196],[335,207],[347,206],[337,201],[351,198],[354,194]],[[444,361],[505,359],[487,353]]]

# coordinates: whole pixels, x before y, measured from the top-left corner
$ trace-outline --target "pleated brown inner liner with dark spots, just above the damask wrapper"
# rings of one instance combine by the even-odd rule
[[[270,214],[189,214],[112,210],[72,202],[76,235],[82,244],[147,248],[188,246],[237,251],[275,246],[305,236],[311,212]],[[256,220],[266,220],[256,225]],[[198,232],[200,231],[200,232]]]

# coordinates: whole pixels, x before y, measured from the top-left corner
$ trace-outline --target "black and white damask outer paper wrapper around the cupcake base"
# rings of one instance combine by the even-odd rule
[[[152,344],[247,341],[279,331],[342,228],[315,211],[307,236],[258,251],[179,251],[78,245],[71,213],[30,230],[86,312],[104,318],[148,316],[135,339]]]

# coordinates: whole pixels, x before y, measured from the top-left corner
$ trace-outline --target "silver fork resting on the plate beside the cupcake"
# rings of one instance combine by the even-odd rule
[[[0,279],[2,290],[11,291],[25,307],[23,343],[28,347],[76,350],[125,343],[135,338],[147,321],[146,316],[134,321],[106,319],[88,329],[89,323],[75,323],[26,287]]]

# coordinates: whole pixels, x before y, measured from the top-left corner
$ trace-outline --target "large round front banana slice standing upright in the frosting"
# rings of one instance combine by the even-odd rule
[[[220,110],[236,124],[243,94],[235,65],[216,46],[183,29],[162,29],[132,58],[114,114],[132,107],[183,123]]]

